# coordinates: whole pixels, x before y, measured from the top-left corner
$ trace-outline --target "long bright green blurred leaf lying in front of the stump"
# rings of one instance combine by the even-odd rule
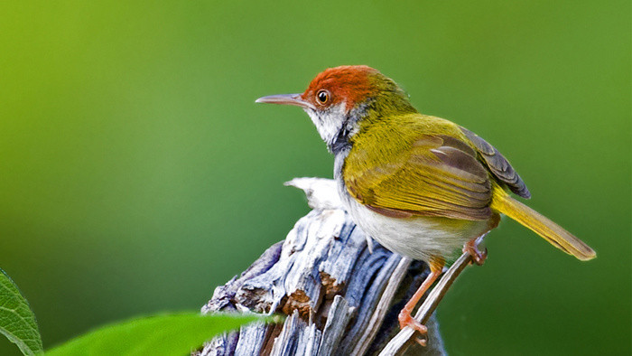
[[[163,314],[104,326],[70,340],[46,356],[55,355],[185,355],[218,333],[273,317],[236,314]]]

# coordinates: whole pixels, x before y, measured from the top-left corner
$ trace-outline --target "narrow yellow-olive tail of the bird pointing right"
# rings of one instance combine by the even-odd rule
[[[563,230],[560,225],[548,220],[544,215],[534,211],[522,202],[516,201],[502,188],[496,187],[495,189],[497,192],[494,192],[494,199],[491,203],[493,210],[502,212],[509,218],[518,221],[549,241],[554,247],[560,248],[562,251],[582,261],[588,261],[597,256],[590,246],[586,245],[581,239],[574,237],[567,230]]]

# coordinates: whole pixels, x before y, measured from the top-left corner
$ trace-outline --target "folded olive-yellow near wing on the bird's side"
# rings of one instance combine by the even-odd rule
[[[491,217],[490,174],[471,146],[448,135],[419,135],[403,144],[383,152],[388,159],[373,159],[362,146],[351,149],[343,179],[355,199],[394,217]]]

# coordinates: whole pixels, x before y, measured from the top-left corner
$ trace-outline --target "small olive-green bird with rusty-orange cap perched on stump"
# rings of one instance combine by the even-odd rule
[[[334,155],[333,177],[355,224],[385,248],[430,267],[398,315],[401,328],[427,333],[412,317],[414,306],[459,248],[483,264],[487,249],[479,250],[477,238],[496,228],[501,214],[575,258],[596,257],[581,239],[512,197],[531,193],[493,145],[449,120],[421,114],[379,70],[329,68],[300,94],[256,102],[302,108]]]

